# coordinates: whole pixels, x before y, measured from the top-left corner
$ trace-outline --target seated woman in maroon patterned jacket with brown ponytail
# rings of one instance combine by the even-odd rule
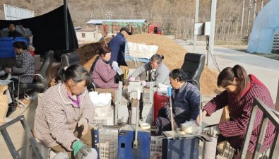
[[[218,76],[217,85],[225,90],[203,107],[202,118],[210,116],[213,112],[228,105],[230,110],[230,121],[210,126],[206,132],[210,136],[218,137],[218,141],[220,142],[224,140],[228,141],[230,146],[236,149],[233,158],[237,159],[240,158],[242,154],[254,99],[259,98],[259,100],[271,109],[274,109],[273,100],[268,88],[254,75],[247,75],[244,68],[239,65],[223,69]],[[258,111],[246,158],[253,157],[262,117],[263,112]],[[199,117],[197,118],[197,122],[198,120]],[[269,122],[260,152],[265,151],[266,148],[273,143],[274,137],[275,126]]]

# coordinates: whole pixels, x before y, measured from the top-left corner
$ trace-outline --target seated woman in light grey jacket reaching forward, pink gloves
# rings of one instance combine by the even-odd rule
[[[170,84],[170,79],[169,79],[169,73],[170,69],[162,62],[164,59],[163,55],[160,54],[154,54],[150,62],[144,64],[143,66],[138,67],[131,77],[129,78],[129,81],[135,81],[136,77],[139,76],[141,73],[144,73],[146,71],[151,71],[150,76],[151,76],[151,81],[156,81],[157,83],[162,83],[165,85]],[[142,81],[142,86],[149,88],[149,83],[146,81]]]

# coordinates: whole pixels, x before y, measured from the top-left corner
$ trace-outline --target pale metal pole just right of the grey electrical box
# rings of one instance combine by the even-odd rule
[[[213,50],[214,50],[214,35],[215,35],[215,16],[216,16],[217,0],[211,0],[211,12],[210,12],[210,36],[209,36],[209,53],[208,67],[212,68],[213,63]]]

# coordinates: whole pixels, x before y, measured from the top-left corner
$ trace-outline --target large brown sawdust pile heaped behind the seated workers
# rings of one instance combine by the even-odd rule
[[[109,42],[110,39],[106,39]],[[172,70],[181,68],[184,62],[184,56],[186,50],[175,43],[168,37],[154,34],[141,34],[131,35],[127,38],[128,42],[136,42],[146,45],[158,45],[158,54],[165,56],[164,63]],[[76,50],[81,58],[81,64],[85,66],[88,71],[90,70],[93,61],[95,61],[96,50],[100,45],[104,45],[103,42],[95,42],[84,45]],[[215,95],[220,93],[220,89],[216,86],[217,83],[217,71],[212,71],[205,66],[203,73],[201,74],[201,93],[203,95]]]

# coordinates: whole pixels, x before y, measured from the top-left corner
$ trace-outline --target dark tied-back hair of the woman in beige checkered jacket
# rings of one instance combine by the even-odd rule
[[[64,66],[61,66],[57,70],[57,77],[55,82],[61,81],[62,83],[72,79],[73,83],[79,83],[85,80],[85,86],[88,86],[91,83],[90,73],[81,65],[73,64],[65,69]]]

